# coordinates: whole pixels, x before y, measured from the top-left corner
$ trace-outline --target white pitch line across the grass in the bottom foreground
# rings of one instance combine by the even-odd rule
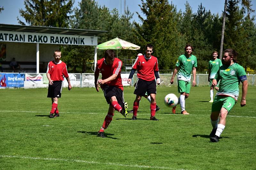
[[[133,168],[185,170],[185,169],[176,169],[176,168],[164,167],[164,166],[124,165],[124,164],[111,163],[111,162],[94,162],[94,161],[86,161],[86,160],[79,160],[79,159],[40,158],[40,157],[27,157],[27,156],[19,156],[19,155],[15,155],[15,156],[14,155],[1,155],[0,157],[20,158],[20,159],[42,159],[42,160],[54,160],[54,161],[66,161],[66,162],[82,162],[82,163],[87,163],[87,164],[105,164],[105,165],[126,166],[126,167],[133,167]]]

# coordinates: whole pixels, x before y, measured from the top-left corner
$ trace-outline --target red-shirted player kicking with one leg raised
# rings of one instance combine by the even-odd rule
[[[95,73],[94,84],[97,92],[99,92],[99,84],[102,89],[105,99],[107,100],[108,114],[105,117],[102,127],[98,132],[99,137],[104,136],[104,130],[108,128],[108,125],[113,119],[114,112],[117,110],[124,117],[128,116],[127,102],[124,102],[124,88],[121,79],[122,61],[115,57],[113,50],[106,50],[104,58],[98,60]],[[102,74],[102,78],[98,80],[99,74]]]

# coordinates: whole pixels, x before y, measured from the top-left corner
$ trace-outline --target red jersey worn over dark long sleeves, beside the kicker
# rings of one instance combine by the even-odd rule
[[[151,55],[150,59],[146,59],[144,55],[136,58],[132,68],[137,70],[137,77],[146,81],[155,80],[154,71],[158,70],[157,58]]]

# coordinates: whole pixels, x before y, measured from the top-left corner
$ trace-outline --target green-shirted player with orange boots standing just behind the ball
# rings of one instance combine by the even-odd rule
[[[185,110],[185,99],[188,98],[190,92],[190,74],[193,73],[192,86],[196,85],[196,56],[192,55],[193,47],[190,44],[185,46],[185,54],[180,55],[176,67],[173,71],[170,83],[173,84],[173,79],[178,72],[178,92],[180,93],[179,102],[181,107],[181,114],[189,115]],[[172,113],[176,113],[176,107],[172,107]]]

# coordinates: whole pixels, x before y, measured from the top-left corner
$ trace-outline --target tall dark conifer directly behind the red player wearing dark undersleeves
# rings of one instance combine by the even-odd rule
[[[177,13],[174,5],[168,0],[141,1],[141,11],[146,18],[139,15],[142,25],[134,23],[134,39],[140,45],[142,53],[145,45],[151,43],[154,46],[153,55],[157,57],[159,69],[174,69],[177,56],[180,55],[183,39],[177,28]]]

